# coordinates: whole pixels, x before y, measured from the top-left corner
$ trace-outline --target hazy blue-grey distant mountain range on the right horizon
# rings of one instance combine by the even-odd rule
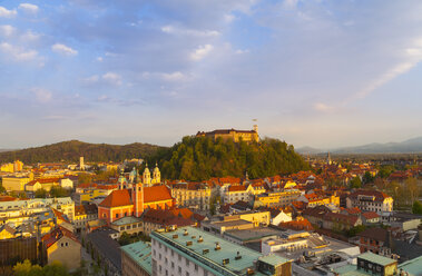
[[[323,152],[332,154],[413,154],[422,152],[422,137],[416,137],[402,142],[372,142],[356,147],[332,148],[332,149],[317,149],[312,147],[302,147],[296,149],[302,155],[316,155]]]

